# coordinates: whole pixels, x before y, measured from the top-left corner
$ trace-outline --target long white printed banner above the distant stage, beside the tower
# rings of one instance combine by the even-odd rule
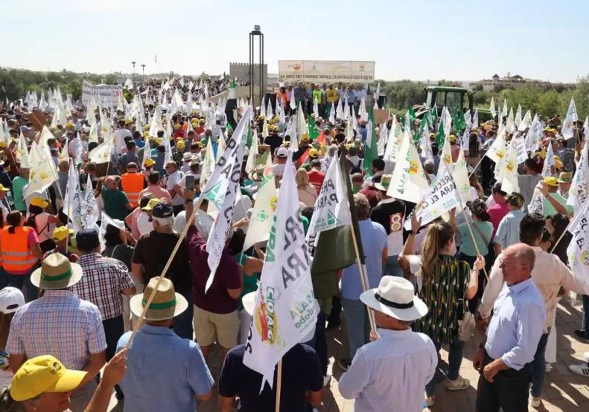
[[[374,81],[373,61],[279,60],[281,82],[370,83]]]

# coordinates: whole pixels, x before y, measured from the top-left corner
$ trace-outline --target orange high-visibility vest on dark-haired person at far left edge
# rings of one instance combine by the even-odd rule
[[[26,272],[38,260],[29,248],[29,231],[35,229],[28,226],[16,226],[14,233],[11,233],[8,231],[9,228],[9,226],[5,226],[0,231],[2,267],[8,273]]]

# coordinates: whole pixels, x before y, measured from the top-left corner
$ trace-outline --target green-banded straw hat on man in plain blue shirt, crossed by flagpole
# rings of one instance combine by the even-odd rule
[[[188,308],[186,298],[174,292],[174,285],[171,280],[163,278],[157,290],[154,290],[157,280],[157,277],[151,278],[143,291],[143,295],[135,295],[129,303],[131,312],[141,317],[144,305],[151,294],[155,293],[149,309],[145,312],[145,320],[147,321],[168,320],[183,313]]]

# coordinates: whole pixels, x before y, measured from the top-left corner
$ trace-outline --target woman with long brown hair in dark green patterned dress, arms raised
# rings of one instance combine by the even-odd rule
[[[418,270],[421,274],[418,274],[422,284],[419,296],[429,307],[429,313],[416,321],[414,330],[428,335],[438,351],[441,345],[449,345],[446,388],[464,390],[470,382],[458,374],[464,348],[464,342],[458,338],[458,321],[468,311],[466,300],[477,293],[478,273],[485,266],[485,258],[479,256],[472,270],[468,263],[456,259],[454,227],[442,220],[429,224],[421,257],[413,255],[418,230],[419,222],[413,217],[411,233],[399,255],[399,265],[405,273]],[[436,381],[434,376],[425,387],[428,406],[434,405]]]

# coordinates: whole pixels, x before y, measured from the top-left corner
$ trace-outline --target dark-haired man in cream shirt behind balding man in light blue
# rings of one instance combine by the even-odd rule
[[[544,217],[537,213],[525,215],[519,224],[519,240],[531,247],[532,252],[534,252],[535,266],[530,270],[531,277],[538,290],[540,290],[544,301],[544,310],[546,311],[545,320],[542,324],[542,335],[537,348],[534,350],[534,373],[531,387],[531,404],[534,407],[540,406],[540,395],[545,374],[546,344],[550,327],[556,315],[558,291],[562,287],[580,294],[584,293],[583,285],[573,277],[571,270],[561,262],[560,258],[540,248],[544,224]],[[519,245],[521,246],[521,244]],[[497,302],[499,301],[497,296],[501,297],[503,281],[507,281],[505,271],[501,269],[501,261],[502,255],[499,255],[489,275],[489,283],[485,288],[481,306],[479,307],[481,318],[488,317],[493,305],[497,308]]]

